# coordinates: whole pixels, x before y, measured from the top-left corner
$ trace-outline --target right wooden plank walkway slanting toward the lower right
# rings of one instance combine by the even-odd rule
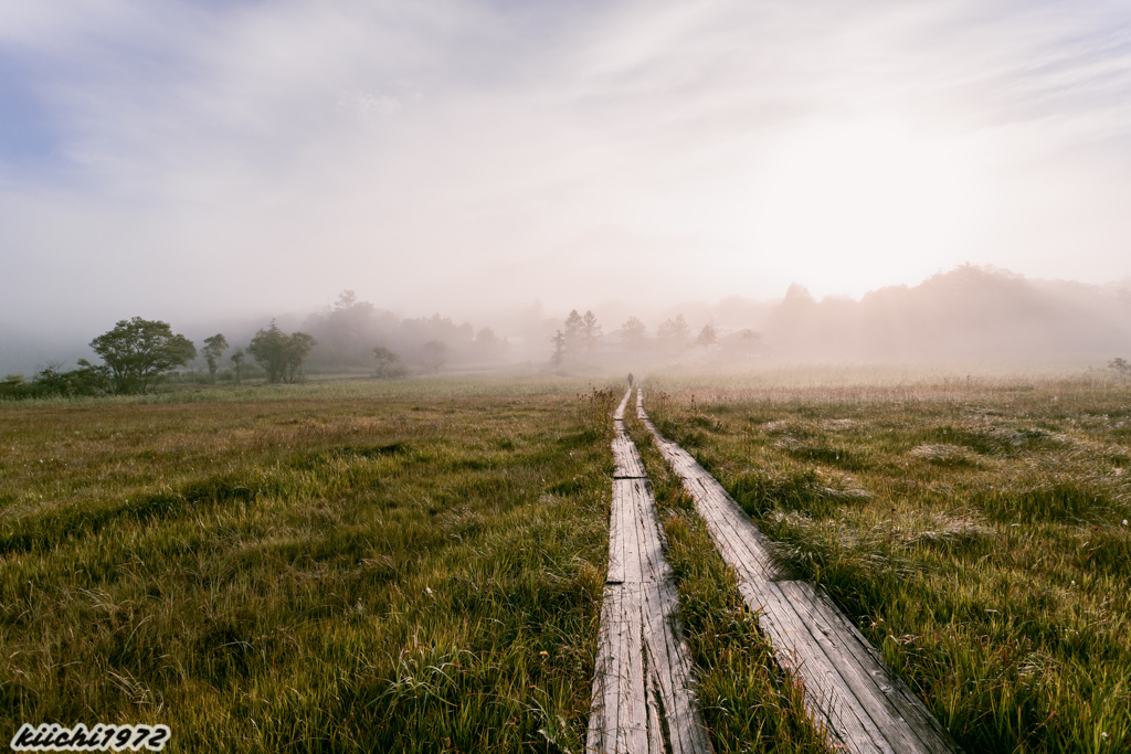
[[[823,589],[791,580],[769,543],[726,489],[690,453],[637,416],[683,479],[715,546],[734,569],[739,590],[777,660],[805,684],[805,707],[835,748],[890,754],[958,752],[950,734],[836,607]]]

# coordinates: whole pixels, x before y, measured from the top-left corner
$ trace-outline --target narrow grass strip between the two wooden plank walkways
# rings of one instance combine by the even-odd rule
[[[756,616],[739,593],[734,573],[715,551],[694,503],[636,418],[625,427],[653,482],[665,551],[680,592],[680,610],[697,691],[716,754],[824,753],[823,737],[805,717],[801,687],[774,661]]]

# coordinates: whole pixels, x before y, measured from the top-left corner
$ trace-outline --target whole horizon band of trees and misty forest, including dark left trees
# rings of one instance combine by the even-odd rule
[[[0,382],[0,398],[144,392],[170,379],[293,382],[308,373],[389,379],[513,363],[572,372],[762,359],[1070,357],[1102,359],[1121,375],[1131,374],[1126,286],[1029,280],[972,265],[916,286],[880,288],[858,301],[835,296],[818,301],[795,284],[780,301],[732,297],[714,306],[688,303],[664,310],[650,322],[623,304],[596,309],[607,311],[613,321],[601,321],[592,310],[554,318],[534,307],[500,320],[500,333],[457,324],[440,314],[400,318],[344,291],[334,305],[308,315],[293,333],[271,321],[247,344],[230,346],[223,333],[216,333],[202,341],[199,352],[170,324],[133,318],[90,343],[92,357],[96,355],[101,364],[81,358],[71,371],[49,363],[31,379],[9,374]],[[144,328],[156,330],[145,335]],[[130,343],[154,337],[166,348],[158,358],[130,352]]]

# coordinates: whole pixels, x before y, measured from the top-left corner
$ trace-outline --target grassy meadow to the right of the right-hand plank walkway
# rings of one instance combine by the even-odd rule
[[[661,432],[967,751],[1131,747],[1128,385],[650,382]]]

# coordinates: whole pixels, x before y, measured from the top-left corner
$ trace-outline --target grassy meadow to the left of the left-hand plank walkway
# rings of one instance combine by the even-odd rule
[[[0,406],[0,738],[579,752],[615,404],[579,387]]]

